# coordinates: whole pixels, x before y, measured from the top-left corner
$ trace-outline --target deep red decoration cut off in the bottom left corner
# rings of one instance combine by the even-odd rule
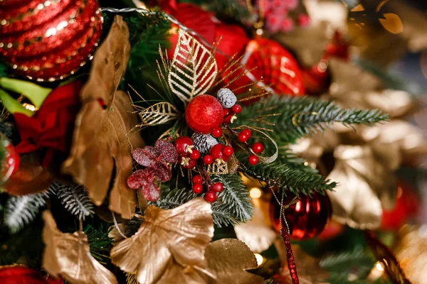
[[[4,284],[63,284],[59,278],[43,276],[38,271],[26,266],[2,266],[0,283]]]

